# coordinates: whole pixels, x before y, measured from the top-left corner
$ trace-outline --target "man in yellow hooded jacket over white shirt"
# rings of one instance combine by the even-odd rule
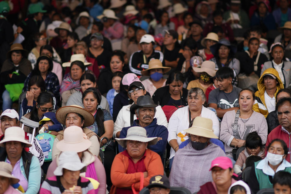
[[[263,114],[266,118],[269,112],[275,110],[277,92],[283,88],[284,85],[277,70],[273,68],[266,69],[258,82],[258,91],[255,93],[253,110]]]

